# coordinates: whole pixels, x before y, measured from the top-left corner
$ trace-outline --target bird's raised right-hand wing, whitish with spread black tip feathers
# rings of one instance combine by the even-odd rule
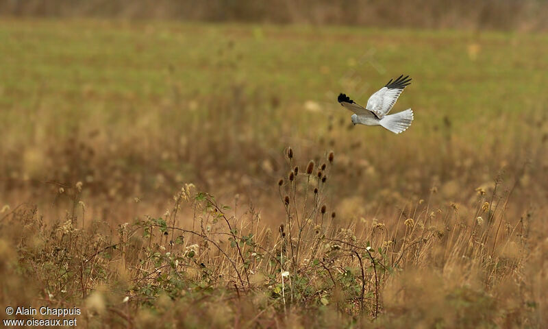
[[[390,112],[403,89],[411,84],[410,81],[411,78],[409,75],[406,77],[400,75],[394,81],[390,79],[386,86],[380,88],[377,93],[374,93],[371,97],[369,97],[365,108],[375,113],[375,115],[381,119],[388,114],[388,112]]]

